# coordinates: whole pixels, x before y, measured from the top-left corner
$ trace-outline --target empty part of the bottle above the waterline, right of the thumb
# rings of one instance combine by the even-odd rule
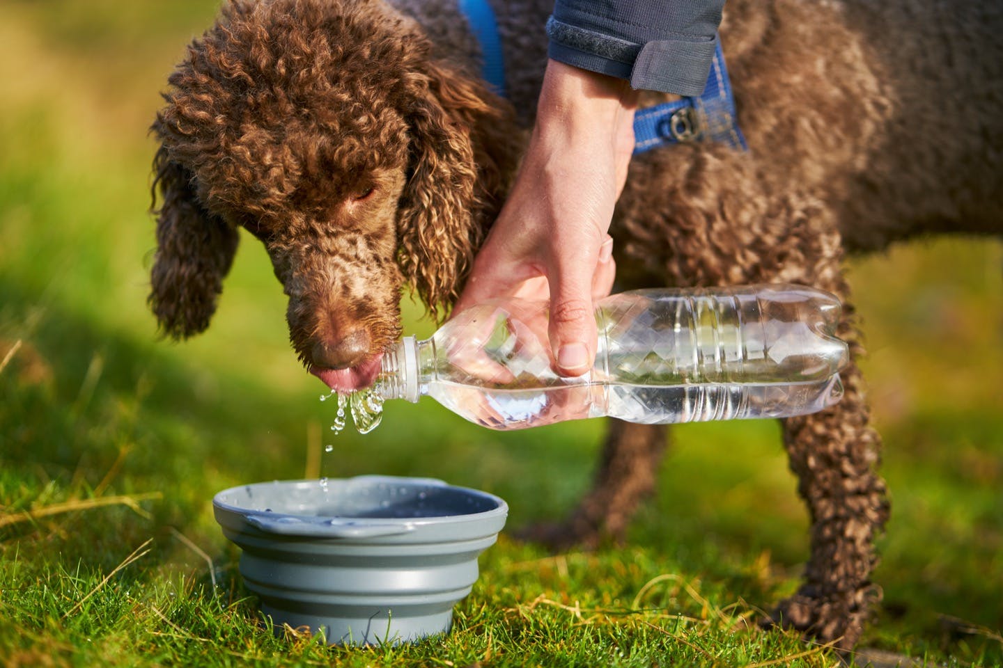
[[[840,310],[796,285],[623,292],[598,304],[596,371],[631,385],[822,381],[849,360]]]

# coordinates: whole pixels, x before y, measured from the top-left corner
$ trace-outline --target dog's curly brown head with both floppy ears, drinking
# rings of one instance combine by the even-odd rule
[[[516,160],[511,111],[381,0],[232,0],[169,80],[149,303],[203,331],[243,226],[328,386],[372,382],[405,282],[448,307]]]

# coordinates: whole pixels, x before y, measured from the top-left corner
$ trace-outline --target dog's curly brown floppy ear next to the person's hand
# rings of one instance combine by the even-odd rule
[[[437,316],[458,295],[485,231],[489,195],[477,183],[483,156],[471,134],[477,116],[496,112],[479,83],[441,64],[410,74],[405,90],[410,173],[399,207],[399,262]]]

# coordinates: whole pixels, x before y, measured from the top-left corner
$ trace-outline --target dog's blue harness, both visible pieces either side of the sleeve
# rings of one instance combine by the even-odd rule
[[[457,0],[457,4],[480,43],[481,76],[495,93],[504,96],[505,59],[494,11],[487,0]],[[634,114],[635,155],[659,146],[705,140],[748,150],[735,116],[735,101],[721,41],[715,41],[710,74],[701,95],[682,97]]]

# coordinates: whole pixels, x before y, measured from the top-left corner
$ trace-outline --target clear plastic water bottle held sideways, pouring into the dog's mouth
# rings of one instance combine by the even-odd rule
[[[592,370],[554,371],[546,302],[489,301],[383,357],[385,399],[428,395],[497,430],[609,416],[633,423],[782,418],[840,401],[839,299],[801,285],[645,289],[597,303]]]

